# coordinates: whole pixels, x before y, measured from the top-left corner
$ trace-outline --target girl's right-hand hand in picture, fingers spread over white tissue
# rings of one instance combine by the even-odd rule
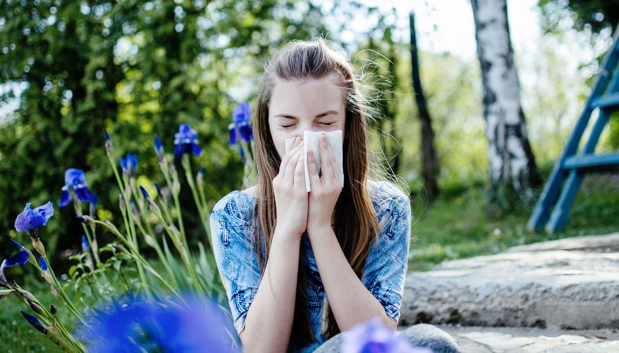
[[[318,176],[313,151],[308,151],[309,192],[308,204],[308,236],[312,230],[321,227],[331,228],[331,215],[337,198],[342,192],[342,180],[339,168],[331,147],[327,143],[327,136],[323,133],[318,139],[321,159],[321,176]]]

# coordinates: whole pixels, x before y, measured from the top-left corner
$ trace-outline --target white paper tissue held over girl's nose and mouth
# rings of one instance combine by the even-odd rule
[[[325,132],[325,135],[327,135],[327,143],[329,143],[329,147],[331,147],[331,153],[333,153],[333,155],[335,156],[335,161],[337,162],[337,168],[339,169],[340,172],[340,181],[342,181],[342,187],[344,187],[344,168],[343,168],[343,163],[344,163],[344,159],[342,158],[342,130],[335,130],[335,131],[329,131],[329,132]],[[314,160],[316,161],[316,170],[318,171],[318,174],[321,175],[321,163],[320,163],[320,145],[319,145],[319,138],[322,136],[322,131],[309,131],[309,130],[305,130],[305,133],[303,134],[303,142],[305,143],[305,155],[304,158],[307,158],[308,155],[308,151],[314,151]],[[290,148],[292,147],[292,143],[294,142],[295,138],[288,138],[285,143],[286,143],[286,153],[288,153],[288,151],[290,151]],[[308,169],[308,164],[307,164],[307,160],[305,160],[305,188],[308,192],[311,191],[311,187],[309,186],[309,169]]]

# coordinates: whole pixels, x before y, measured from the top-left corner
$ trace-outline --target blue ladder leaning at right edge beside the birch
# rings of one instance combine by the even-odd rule
[[[591,95],[587,99],[584,111],[569,137],[568,143],[560,158],[556,161],[550,177],[544,185],[542,194],[533,210],[527,228],[535,230],[546,224],[546,231],[553,233],[565,227],[569,219],[569,210],[582,183],[586,172],[596,170],[616,170],[619,166],[619,153],[595,155],[595,145],[608,122],[610,114],[619,111],[619,27],[615,30],[613,45],[608,50],[602,70],[595,80]],[[597,121],[591,130],[589,140],[578,155],[578,145],[581,141],[591,114],[599,109]],[[565,184],[564,184],[565,181]],[[563,190],[561,190],[563,187]],[[561,191],[557,199],[557,194]],[[552,209],[553,203],[556,205]],[[552,213],[550,210],[552,209]],[[548,219],[550,216],[550,219]]]

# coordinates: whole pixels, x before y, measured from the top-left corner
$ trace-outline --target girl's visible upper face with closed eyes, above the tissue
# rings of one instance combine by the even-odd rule
[[[285,140],[303,137],[305,130],[342,130],[345,136],[346,103],[344,88],[334,76],[308,81],[278,80],[269,103],[269,130],[275,149],[283,158]]]

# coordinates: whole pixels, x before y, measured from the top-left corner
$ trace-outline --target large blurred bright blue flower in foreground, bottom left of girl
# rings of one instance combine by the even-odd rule
[[[232,347],[223,311],[215,304],[185,299],[187,304],[149,302],[115,305],[111,313],[99,312],[93,330],[84,331],[94,341],[88,352],[217,352],[238,353]],[[98,310],[97,310],[98,311]],[[232,331],[226,331],[228,330]]]

